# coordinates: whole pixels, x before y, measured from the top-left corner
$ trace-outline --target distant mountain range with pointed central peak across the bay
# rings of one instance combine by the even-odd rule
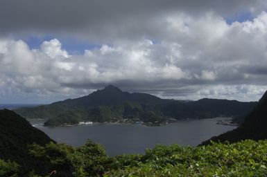
[[[257,102],[201,99],[166,100],[146,93],[128,93],[109,85],[84,97],[15,110],[26,118],[44,118],[46,126],[79,122],[143,122],[159,125],[182,118],[241,117]]]

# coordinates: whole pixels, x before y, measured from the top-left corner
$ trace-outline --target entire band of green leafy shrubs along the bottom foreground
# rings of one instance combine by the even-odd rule
[[[30,154],[42,160],[28,176],[266,176],[267,140],[233,144],[213,142],[201,147],[157,145],[144,155],[108,157],[92,141],[82,147],[50,143],[32,145]],[[16,167],[15,169],[10,166]],[[17,174],[17,165],[0,160],[0,176]]]

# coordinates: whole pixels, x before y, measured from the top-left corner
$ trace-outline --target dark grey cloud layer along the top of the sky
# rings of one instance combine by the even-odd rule
[[[198,17],[205,12],[231,16],[266,8],[264,1],[71,1],[7,0],[0,3],[1,34],[72,35],[93,41],[165,37],[162,18],[173,12]]]

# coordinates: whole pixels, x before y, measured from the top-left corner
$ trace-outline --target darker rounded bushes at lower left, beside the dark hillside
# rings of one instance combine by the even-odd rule
[[[92,141],[78,148],[53,142],[45,147],[35,144],[30,154],[35,160],[43,162],[35,169],[37,174],[45,175],[54,171],[54,176],[102,175],[109,160],[105,149]]]

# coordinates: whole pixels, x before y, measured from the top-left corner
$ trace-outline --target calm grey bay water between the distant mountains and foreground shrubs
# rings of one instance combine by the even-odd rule
[[[146,148],[157,144],[196,146],[233,126],[216,124],[223,118],[205,120],[180,120],[160,127],[145,127],[141,124],[91,124],[69,127],[42,127],[42,120],[32,120],[38,129],[53,140],[67,145],[80,146],[87,139],[105,146],[111,156],[122,153],[144,153]]]

